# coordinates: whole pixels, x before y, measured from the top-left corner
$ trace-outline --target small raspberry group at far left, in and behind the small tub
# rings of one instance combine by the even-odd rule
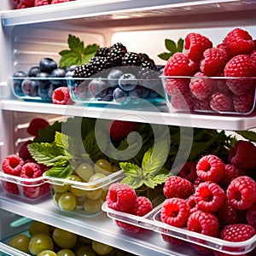
[[[28,125],[27,132],[34,137],[38,137],[38,132],[44,130],[48,125],[47,120],[35,118]],[[22,179],[20,181],[17,179],[16,183],[3,181],[2,184],[4,190],[9,194],[20,195],[27,199],[37,199],[49,194],[49,183],[35,180],[37,177],[42,177],[48,168],[32,159],[32,155],[27,149],[27,145],[30,143],[32,143],[32,140],[22,143],[18,154],[9,154],[2,162],[4,173],[14,177],[21,177]],[[14,179],[9,178],[9,180]]]

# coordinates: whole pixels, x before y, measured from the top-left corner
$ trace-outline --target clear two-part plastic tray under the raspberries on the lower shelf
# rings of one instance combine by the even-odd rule
[[[114,211],[107,206],[106,202],[102,205],[102,210],[107,212],[108,217],[112,218],[116,224],[122,222],[125,223],[124,227],[127,227],[127,224],[137,227],[137,229],[130,230],[153,230],[154,232],[159,233],[166,242],[169,240],[172,242],[174,241],[175,244],[179,245],[183,243],[189,243],[192,246],[198,245],[200,247],[210,249],[210,253],[212,253],[212,250],[215,250],[221,253],[229,253],[229,255],[244,255],[245,253],[253,251],[256,247],[256,235],[247,241],[231,242],[195,233],[187,230],[186,228],[177,228],[169,224],[165,224],[160,221],[161,206],[162,203],[157,207],[154,207],[151,212],[148,212],[148,214],[143,217],[135,216],[130,213]]]

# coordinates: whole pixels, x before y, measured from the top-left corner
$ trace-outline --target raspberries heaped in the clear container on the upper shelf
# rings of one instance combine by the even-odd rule
[[[172,108],[185,111],[251,113],[255,101],[256,40],[235,28],[217,46],[195,32],[184,38],[164,68]]]

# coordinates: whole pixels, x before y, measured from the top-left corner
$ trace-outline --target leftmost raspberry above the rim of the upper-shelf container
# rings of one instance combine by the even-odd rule
[[[175,53],[166,63],[165,76],[192,76],[197,69],[195,62],[190,61],[183,53]]]

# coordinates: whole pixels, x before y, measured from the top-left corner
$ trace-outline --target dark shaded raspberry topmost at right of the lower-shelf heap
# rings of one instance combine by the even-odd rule
[[[229,162],[238,169],[249,170],[256,166],[256,146],[249,142],[239,140],[231,148]]]

